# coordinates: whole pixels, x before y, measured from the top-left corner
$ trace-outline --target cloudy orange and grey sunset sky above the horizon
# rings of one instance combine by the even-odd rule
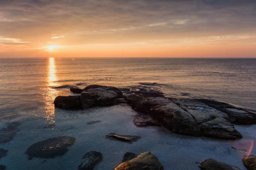
[[[256,0],[0,0],[0,57],[256,57]]]

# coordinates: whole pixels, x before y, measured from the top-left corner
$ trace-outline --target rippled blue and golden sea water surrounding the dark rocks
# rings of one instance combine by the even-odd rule
[[[0,148],[7,170],[76,170],[82,156],[99,151],[95,170],[113,170],[125,152],[150,151],[165,170],[199,170],[196,162],[216,159],[245,170],[241,158],[256,154],[256,125],[236,125],[243,139],[227,141],[169,133],[162,127],[139,128],[128,106],[82,111],[54,108],[58,95],[73,95],[58,85],[154,86],[171,97],[216,99],[256,112],[256,59],[40,58],[0,59],[0,130],[20,122],[19,131]],[[87,122],[101,122],[87,125]],[[54,128],[44,128],[54,124]],[[138,135],[133,144],[106,139],[108,133]],[[63,156],[28,159],[26,149],[55,136],[76,138]],[[1,136],[0,136],[1,137]],[[237,150],[231,147],[236,147]]]

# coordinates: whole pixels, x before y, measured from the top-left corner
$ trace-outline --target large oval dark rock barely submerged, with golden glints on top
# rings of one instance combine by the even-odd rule
[[[67,147],[74,144],[75,141],[76,139],[70,136],[58,136],[32,144],[26,150],[26,154],[29,159],[32,157],[55,158],[55,156],[64,155],[68,151]]]

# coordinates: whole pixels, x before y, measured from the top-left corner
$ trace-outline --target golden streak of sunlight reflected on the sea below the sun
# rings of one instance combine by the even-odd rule
[[[46,122],[48,124],[53,124],[55,122],[54,118],[55,118],[55,109],[54,109],[54,105],[52,104],[52,102],[55,99],[55,96],[58,96],[58,91],[50,88],[51,86],[55,86],[58,85],[58,83],[56,83],[56,81],[58,81],[56,75],[55,75],[55,59],[54,58],[49,58],[48,61],[48,76],[47,76],[47,86],[44,89],[44,110],[45,110],[45,114],[44,117],[46,118]]]

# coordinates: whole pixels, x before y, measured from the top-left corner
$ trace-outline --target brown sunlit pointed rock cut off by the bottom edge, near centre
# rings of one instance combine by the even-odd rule
[[[136,158],[119,164],[115,170],[163,170],[163,165],[152,153],[143,152]]]

